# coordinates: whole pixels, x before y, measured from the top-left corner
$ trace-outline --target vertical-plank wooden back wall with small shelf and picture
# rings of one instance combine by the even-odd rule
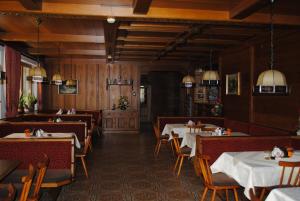
[[[58,63],[57,59],[47,59],[46,69],[48,77],[60,71],[63,79],[76,79],[79,81],[79,93],[77,95],[60,95],[57,86],[44,86],[44,109],[70,109],[77,110],[99,110],[111,109],[115,103],[117,105],[120,95],[129,97],[130,107],[139,107],[139,71],[138,67],[132,63],[106,64],[105,60],[97,59],[63,59]],[[106,79],[119,78],[133,79],[133,90],[136,96],[132,96],[131,87],[127,86],[106,86]],[[130,88],[130,90],[129,90]]]

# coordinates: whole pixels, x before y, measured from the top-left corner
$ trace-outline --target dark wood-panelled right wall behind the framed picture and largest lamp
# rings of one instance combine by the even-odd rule
[[[252,96],[252,86],[256,84],[258,75],[269,66],[268,43],[257,42],[228,50],[220,58],[225,116],[295,131],[300,115],[300,32],[276,38],[275,47],[275,69],[285,74],[291,94]],[[242,75],[241,95],[225,95],[225,75],[236,72]]]

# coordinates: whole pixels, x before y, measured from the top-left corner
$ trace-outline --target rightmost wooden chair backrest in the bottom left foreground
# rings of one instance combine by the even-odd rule
[[[37,178],[35,181],[33,193],[30,196],[30,198],[33,200],[38,200],[40,189],[49,165],[49,157],[46,154],[43,155],[43,160],[37,164]]]

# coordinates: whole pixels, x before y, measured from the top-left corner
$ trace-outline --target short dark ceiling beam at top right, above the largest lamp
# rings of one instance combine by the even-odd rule
[[[229,11],[230,19],[244,19],[265,7],[270,0],[241,0]]]

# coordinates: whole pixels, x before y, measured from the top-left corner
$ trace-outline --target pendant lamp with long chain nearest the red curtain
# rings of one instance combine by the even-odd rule
[[[33,82],[43,82],[44,78],[47,78],[46,70],[40,65],[40,59],[39,59],[39,53],[40,53],[40,24],[41,19],[36,18],[36,24],[37,24],[37,53],[38,53],[38,65],[37,67],[34,67],[31,69],[31,72],[29,73],[32,76]]]

